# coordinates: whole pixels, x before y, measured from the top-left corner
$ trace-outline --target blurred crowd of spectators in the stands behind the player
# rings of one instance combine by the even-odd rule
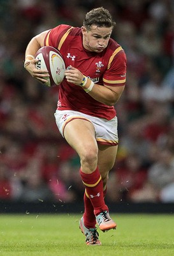
[[[0,0],[0,200],[82,202],[78,156],[54,120],[58,88],[35,81],[24,54],[34,35],[82,26],[99,6],[112,13],[112,37],[127,54],[106,200],[174,202],[173,0]]]

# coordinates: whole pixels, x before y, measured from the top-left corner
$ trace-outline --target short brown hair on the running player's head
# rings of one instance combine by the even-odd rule
[[[115,22],[112,20],[112,15],[108,10],[99,7],[88,12],[83,20],[83,26],[88,30],[90,30],[92,25],[111,28],[115,26]]]

